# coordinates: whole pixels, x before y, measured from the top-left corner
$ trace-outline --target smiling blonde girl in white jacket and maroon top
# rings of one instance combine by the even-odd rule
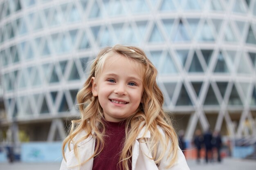
[[[61,170],[189,170],[156,77],[135,46],[101,50],[77,94],[81,119],[63,142]]]

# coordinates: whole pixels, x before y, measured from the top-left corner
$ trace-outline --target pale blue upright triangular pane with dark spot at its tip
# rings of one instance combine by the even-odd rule
[[[173,35],[173,42],[184,42],[189,40],[190,40],[189,34],[187,33],[183,22],[180,20],[177,30]]]

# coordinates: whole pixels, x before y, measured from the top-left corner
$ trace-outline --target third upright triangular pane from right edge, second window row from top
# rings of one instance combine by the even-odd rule
[[[200,34],[198,34],[198,40],[199,41],[214,41],[213,36],[213,30],[208,25],[208,23],[205,21],[204,25],[202,26],[200,30]]]

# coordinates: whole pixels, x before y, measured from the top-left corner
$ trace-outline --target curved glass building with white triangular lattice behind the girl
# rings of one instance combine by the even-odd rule
[[[0,0],[3,134],[63,139],[90,61],[117,43],[146,51],[187,140],[256,135],[256,0]]]

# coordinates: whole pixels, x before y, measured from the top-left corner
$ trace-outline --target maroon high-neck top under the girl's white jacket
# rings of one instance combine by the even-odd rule
[[[105,120],[105,145],[100,154],[94,157],[92,170],[120,170],[118,162],[124,145],[125,124],[125,121]],[[96,146],[97,143],[95,143],[95,148]]]

